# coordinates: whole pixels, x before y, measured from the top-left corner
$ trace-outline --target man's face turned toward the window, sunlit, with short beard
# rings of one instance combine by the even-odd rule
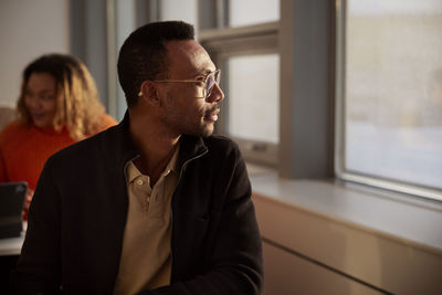
[[[168,80],[201,80],[215,66],[206,50],[194,40],[170,41]],[[203,97],[203,83],[159,83],[164,89],[161,122],[177,134],[209,136],[218,120],[218,103],[224,98],[215,83]]]

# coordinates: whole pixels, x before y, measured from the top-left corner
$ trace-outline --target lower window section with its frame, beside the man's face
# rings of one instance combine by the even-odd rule
[[[240,145],[246,160],[275,166],[280,144],[280,55],[228,55],[221,61],[227,70],[221,133]]]

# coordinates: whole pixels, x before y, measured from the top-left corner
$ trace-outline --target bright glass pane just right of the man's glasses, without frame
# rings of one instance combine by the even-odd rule
[[[229,134],[244,139],[280,141],[280,55],[228,60]]]

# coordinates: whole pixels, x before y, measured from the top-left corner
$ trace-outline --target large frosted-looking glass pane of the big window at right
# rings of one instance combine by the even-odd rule
[[[442,189],[442,1],[347,3],[347,170]]]

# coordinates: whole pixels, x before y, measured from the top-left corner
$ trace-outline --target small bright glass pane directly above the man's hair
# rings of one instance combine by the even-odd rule
[[[197,27],[197,0],[161,0],[161,21],[180,20]]]

